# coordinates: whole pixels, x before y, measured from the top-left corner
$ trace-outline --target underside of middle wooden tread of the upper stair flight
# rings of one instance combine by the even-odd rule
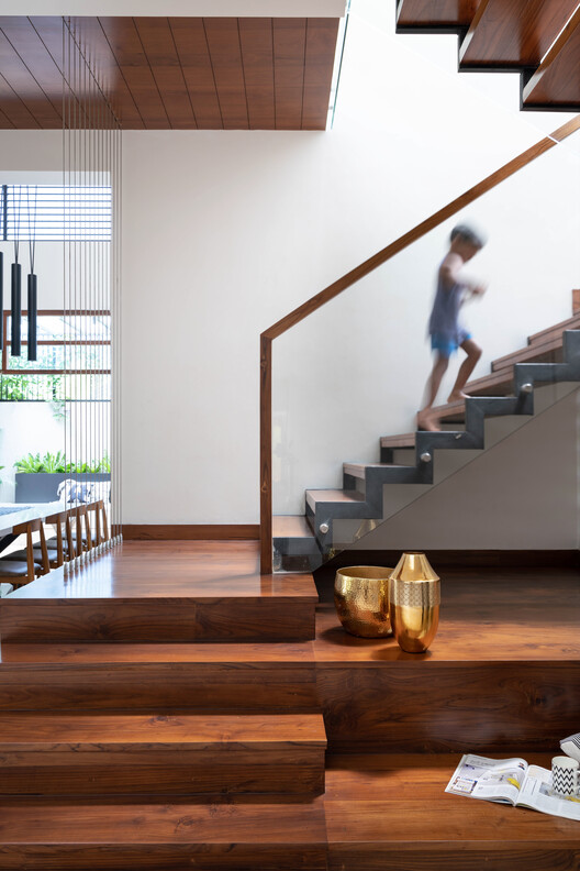
[[[576,0],[483,0],[461,44],[461,68],[538,66]]]

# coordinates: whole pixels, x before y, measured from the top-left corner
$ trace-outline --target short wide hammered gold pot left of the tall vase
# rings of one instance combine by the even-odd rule
[[[352,565],[339,569],[334,582],[334,604],[343,627],[360,638],[391,635],[389,575],[392,569]]]

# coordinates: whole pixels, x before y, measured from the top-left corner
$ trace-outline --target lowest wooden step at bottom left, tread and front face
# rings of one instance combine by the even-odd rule
[[[322,797],[292,803],[0,802],[0,869],[326,871]]]

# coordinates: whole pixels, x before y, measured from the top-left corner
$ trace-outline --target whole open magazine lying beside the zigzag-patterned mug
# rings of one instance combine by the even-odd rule
[[[580,798],[550,795],[550,783],[551,771],[528,765],[524,759],[487,759],[469,753],[457,765],[445,792],[580,819]]]

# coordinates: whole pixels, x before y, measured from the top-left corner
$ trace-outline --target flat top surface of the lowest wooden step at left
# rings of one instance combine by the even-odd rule
[[[2,847],[325,844],[322,800],[285,803],[0,802]],[[90,866],[89,866],[90,867]],[[234,866],[235,867],[235,866]]]

